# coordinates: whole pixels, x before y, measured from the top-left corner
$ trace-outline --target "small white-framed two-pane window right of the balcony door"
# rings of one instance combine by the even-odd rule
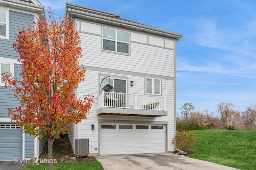
[[[161,94],[161,79],[146,78],[146,94]]]

